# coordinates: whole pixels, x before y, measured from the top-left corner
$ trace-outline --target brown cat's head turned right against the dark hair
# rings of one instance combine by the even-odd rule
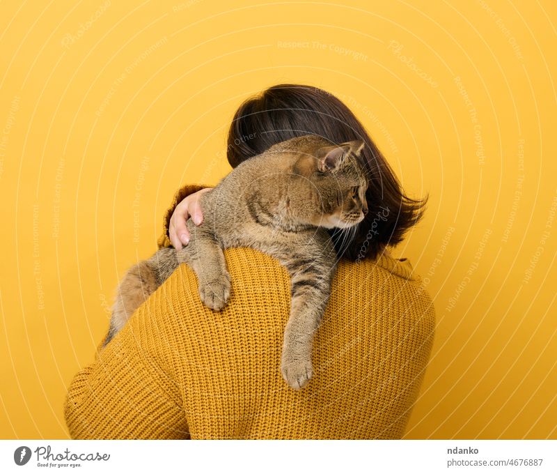
[[[368,179],[360,157],[364,142],[331,145],[309,135],[301,144],[294,170],[306,178],[311,192],[316,211],[311,223],[327,229],[359,224],[368,213]]]

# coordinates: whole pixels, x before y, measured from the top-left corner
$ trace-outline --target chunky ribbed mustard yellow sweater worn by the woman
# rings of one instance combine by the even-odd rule
[[[185,186],[164,220],[201,186]],[[317,330],[314,375],[283,381],[290,281],[272,257],[229,249],[230,302],[201,303],[186,265],[74,377],[72,438],[400,438],[430,356],[432,301],[407,260],[341,260]]]

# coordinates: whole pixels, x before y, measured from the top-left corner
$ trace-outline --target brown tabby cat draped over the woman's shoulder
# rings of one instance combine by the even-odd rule
[[[187,221],[182,250],[162,248],[128,270],[113,305],[104,344],[180,263],[196,273],[201,301],[215,311],[230,297],[223,249],[252,247],[278,259],[291,280],[290,317],[281,373],[299,390],[313,375],[313,335],[329,300],[336,254],[326,229],[348,229],[368,212],[364,143],[340,145],[304,135],[245,160],[201,196],[203,222]]]

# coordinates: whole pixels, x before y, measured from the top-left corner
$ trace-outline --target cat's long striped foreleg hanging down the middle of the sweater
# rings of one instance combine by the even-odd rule
[[[279,260],[290,274],[292,302],[284,332],[281,372],[290,387],[299,390],[313,375],[311,353],[315,330],[322,319],[336,268],[332,245],[302,246]]]

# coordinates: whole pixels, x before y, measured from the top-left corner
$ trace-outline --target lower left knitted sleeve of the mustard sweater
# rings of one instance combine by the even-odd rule
[[[73,379],[64,415],[74,439],[188,439],[178,388],[133,324]]]

